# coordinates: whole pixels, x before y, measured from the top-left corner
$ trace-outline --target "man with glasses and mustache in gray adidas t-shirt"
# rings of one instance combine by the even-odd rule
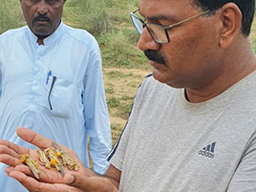
[[[255,192],[256,57],[249,38],[254,4],[140,0],[130,15],[153,75],[139,87],[104,177],[80,161],[80,171],[64,178],[44,169],[35,181],[19,166],[7,173],[32,191],[75,191],[73,186],[93,192]],[[42,149],[52,145],[31,130],[17,132]],[[22,152],[34,154],[16,149],[0,140],[0,161],[16,166]]]

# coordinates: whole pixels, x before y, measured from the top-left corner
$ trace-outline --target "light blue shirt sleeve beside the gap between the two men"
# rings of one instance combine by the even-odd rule
[[[102,175],[109,167],[106,157],[111,150],[112,139],[101,63],[101,53],[97,49],[90,58],[84,78],[83,105],[85,126],[90,136],[90,155],[94,162],[94,171]]]

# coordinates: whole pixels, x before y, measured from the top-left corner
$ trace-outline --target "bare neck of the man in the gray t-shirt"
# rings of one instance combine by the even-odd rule
[[[203,88],[185,89],[188,101],[198,103],[219,96],[256,70],[256,57],[250,46],[241,46],[237,53],[225,53],[224,57],[227,61],[224,62],[224,69],[220,75],[216,76],[215,79]]]

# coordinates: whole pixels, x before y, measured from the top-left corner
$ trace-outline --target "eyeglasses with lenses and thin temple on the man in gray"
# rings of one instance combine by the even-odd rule
[[[160,44],[166,44],[170,42],[170,38],[168,35],[168,30],[173,29],[174,27],[181,25],[181,23],[184,23],[186,21],[189,21],[191,19],[197,18],[199,16],[202,16],[203,14],[206,14],[210,11],[215,11],[217,9],[220,9],[221,7],[216,7],[207,11],[203,11],[195,16],[189,17],[187,19],[184,19],[178,23],[172,24],[170,26],[164,26],[164,25],[160,25],[160,24],[156,24],[156,23],[145,23],[142,19],[140,19],[138,16],[135,15],[136,11],[132,11],[130,12],[130,16],[131,19],[133,21],[133,24],[136,28],[136,30],[139,32],[139,34],[142,33],[143,29],[146,27],[147,31],[149,32],[149,34],[151,35],[151,37],[153,38],[154,41],[156,41],[157,43]]]

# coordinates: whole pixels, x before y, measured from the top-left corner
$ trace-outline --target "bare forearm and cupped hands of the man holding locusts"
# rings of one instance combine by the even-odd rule
[[[41,149],[52,146],[51,139],[40,136],[30,129],[20,127],[17,129],[17,134],[21,139]],[[69,150],[65,146],[61,145],[61,147],[63,147],[64,150]],[[21,182],[21,184],[30,191],[117,192],[117,188],[112,184],[113,179],[116,180],[116,184],[119,181],[120,172],[117,171],[116,168],[110,169],[106,177],[99,177],[96,173],[87,169],[81,161],[77,159],[75,153],[71,152],[70,156],[80,166],[79,171],[74,172],[66,170],[67,174],[65,177],[62,177],[59,172],[47,169],[38,164],[40,179],[37,181],[33,178],[29,167],[19,161],[20,155],[23,154],[30,154],[32,159],[35,159],[37,156],[35,150],[16,145],[8,140],[0,139],[0,162],[10,165],[10,167],[6,169],[7,174]],[[112,174],[114,175],[112,176]],[[111,180],[108,178],[111,178]]]

